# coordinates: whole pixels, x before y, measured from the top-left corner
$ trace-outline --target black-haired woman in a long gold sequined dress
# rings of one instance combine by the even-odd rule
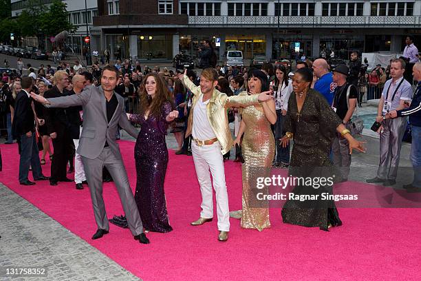
[[[250,70],[248,75],[248,94],[259,94],[269,88],[266,74],[260,70]],[[247,94],[242,92],[241,94]],[[257,200],[257,193],[267,192],[256,188],[257,177],[270,176],[274,158],[274,136],[270,124],[277,121],[273,100],[250,105],[242,110],[241,125],[235,144],[241,143],[244,164],[242,165],[243,192],[241,227],[259,231],[270,227],[268,201]],[[233,212],[241,213],[241,211]],[[239,216],[237,214],[237,216]]]

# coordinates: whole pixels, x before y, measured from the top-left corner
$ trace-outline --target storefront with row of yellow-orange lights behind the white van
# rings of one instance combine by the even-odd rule
[[[226,35],[225,46],[226,52],[242,51],[244,59],[252,59],[253,56],[266,54],[266,38],[264,35]]]

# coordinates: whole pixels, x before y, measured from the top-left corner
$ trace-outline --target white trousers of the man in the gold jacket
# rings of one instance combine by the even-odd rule
[[[212,174],[213,188],[217,202],[218,230],[230,231],[230,211],[228,207],[228,193],[226,191],[224,159],[221,154],[221,145],[215,142],[212,145],[197,146],[191,142],[191,152],[195,163],[197,180],[199,180],[202,193],[202,218],[213,218],[213,191],[210,174]]]

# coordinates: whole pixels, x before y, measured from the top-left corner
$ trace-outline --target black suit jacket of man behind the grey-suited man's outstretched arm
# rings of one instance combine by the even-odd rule
[[[45,92],[45,98],[58,98],[59,96],[67,96],[67,91],[63,94],[56,86]],[[47,133],[57,133],[63,135],[65,129],[70,127],[69,118],[67,116],[67,108],[44,108],[45,125],[47,125]]]

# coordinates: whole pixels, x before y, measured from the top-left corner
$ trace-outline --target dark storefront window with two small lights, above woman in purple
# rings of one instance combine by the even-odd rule
[[[173,59],[173,35],[139,35],[138,59]]]

